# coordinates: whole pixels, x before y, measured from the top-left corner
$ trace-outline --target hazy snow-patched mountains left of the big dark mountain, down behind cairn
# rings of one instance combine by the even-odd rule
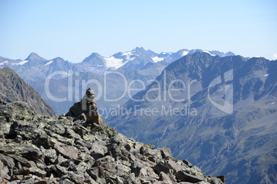
[[[48,102],[57,114],[61,114],[67,111],[74,102],[81,99],[81,94],[87,87],[86,84],[95,89],[96,94],[103,94],[98,103],[105,110],[124,104],[137,92],[132,91],[130,95],[125,93],[125,89],[122,87],[126,82],[130,84],[134,80],[141,80],[143,84],[147,85],[149,84],[148,81],[154,80],[156,76],[160,75],[170,62],[187,54],[194,54],[196,51],[202,50],[181,49],[176,53],[161,52],[161,54],[156,54],[153,51],[143,49],[143,47],[136,47],[132,51],[116,53],[110,58],[92,53],[79,63],[68,62],[59,57],[46,60],[36,53],[31,53],[25,60],[0,57],[0,68],[10,67],[17,72],[25,82],[28,82],[41,94],[43,100]],[[226,54],[220,51],[205,52],[218,56],[234,56],[232,52]],[[104,75],[104,72],[110,73]],[[52,77],[50,78],[51,73]],[[92,79],[96,80],[97,84],[92,82]],[[49,85],[45,89],[45,81],[47,80]],[[141,83],[134,82],[132,88],[141,88]],[[48,89],[50,95],[46,92]],[[107,93],[104,93],[104,89],[107,89]],[[106,102],[104,94],[106,99],[110,101],[119,100]],[[57,98],[66,98],[66,100],[57,100]],[[105,114],[105,110],[103,110],[103,114]]]

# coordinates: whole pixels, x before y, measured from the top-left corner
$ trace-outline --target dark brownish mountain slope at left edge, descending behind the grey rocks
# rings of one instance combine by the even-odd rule
[[[0,69],[0,100],[28,102],[40,115],[56,115],[50,105],[41,99],[41,95],[8,67]]]

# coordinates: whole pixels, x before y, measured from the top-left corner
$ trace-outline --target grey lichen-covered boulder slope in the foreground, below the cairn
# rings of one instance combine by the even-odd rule
[[[74,121],[73,121],[74,120]],[[0,102],[0,183],[223,183],[107,126]]]

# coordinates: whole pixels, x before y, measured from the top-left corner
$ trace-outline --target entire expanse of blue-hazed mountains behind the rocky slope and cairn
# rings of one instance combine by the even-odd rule
[[[110,58],[94,53],[80,63],[34,53],[25,60],[0,57],[6,66],[57,114],[91,87],[106,124],[127,137],[167,146],[174,157],[225,175],[228,183],[277,182],[276,60],[136,47]],[[126,86],[139,91],[125,93]]]

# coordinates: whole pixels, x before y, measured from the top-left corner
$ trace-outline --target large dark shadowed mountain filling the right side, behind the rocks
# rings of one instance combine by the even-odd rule
[[[228,183],[276,183],[277,62],[187,55],[106,123]]]

